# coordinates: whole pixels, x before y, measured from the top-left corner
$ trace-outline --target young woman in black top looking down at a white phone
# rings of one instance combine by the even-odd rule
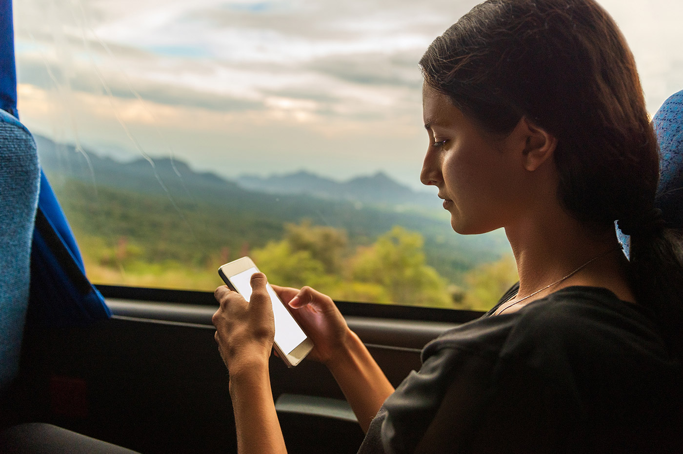
[[[505,228],[520,281],[395,391],[331,298],[276,287],[367,432],[360,452],[683,452],[683,226],[659,209],[656,137],[614,21],[593,0],[490,0],[420,65],[421,180],[456,232]],[[216,340],[240,453],[284,453],[266,277],[251,282],[250,302],[217,289]]]

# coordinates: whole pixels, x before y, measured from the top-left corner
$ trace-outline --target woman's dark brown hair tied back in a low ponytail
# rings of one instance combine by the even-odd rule
[[[647,222],[656,136],[626,40],[595,1],[486,1],[436,38],[420,66],[426,84],[489,132],[506,134],[527,117],[555,135],[558,197],[574,217],[603,229]],[[643,231],[631,236],[632,285],[674,333],[679,237]]]

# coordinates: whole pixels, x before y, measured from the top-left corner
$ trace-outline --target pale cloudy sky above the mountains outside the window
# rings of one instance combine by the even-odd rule
[[[419,188],[417,61],[477,1],[20,0],[18,109],[33,132],[227,178],[384,171]],[[603,0],[654,113],[683,89],[683,2]]]

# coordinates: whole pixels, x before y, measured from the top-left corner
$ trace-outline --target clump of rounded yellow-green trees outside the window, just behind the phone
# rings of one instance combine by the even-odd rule
[[[445,280],[426,264],[422,236],[403,227],[352,254],[344,230],[304,221],[251,255],[271,282],[339,300],[453,307]]]

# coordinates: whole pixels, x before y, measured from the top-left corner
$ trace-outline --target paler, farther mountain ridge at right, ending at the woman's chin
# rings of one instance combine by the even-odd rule
[[[394,180],[384,172],[335,182],[307,171],[262,178],[242,175],[237,183],[243,188],[272,194],[305,194],[321,199],[359,201],[370,204],[416,205],[438,207],[436,196],[418,193]]]

